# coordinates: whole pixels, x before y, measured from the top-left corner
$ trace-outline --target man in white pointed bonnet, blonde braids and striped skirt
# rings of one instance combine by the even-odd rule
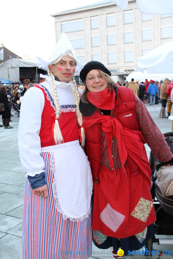
[[[44,61],[46,81],[24,95],[19,154],[27,174],[23,258],[75,258],[91,254],[92,176],[79,93],[73,75],[82,68],[65,33]],[[81,146],[80,146],[81,143]]]

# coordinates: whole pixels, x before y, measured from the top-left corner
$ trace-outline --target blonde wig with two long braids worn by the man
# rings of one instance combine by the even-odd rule
[[[58,61],[60,61],[64,55],[69,55],[71,58],[74,59],[71,51],[67,51],[66,53],[61,55],[54,62],[54,64],[56,64]],[[63,136],[62,136],[62,133],[61,133],[61,130],[60,130],[60,127],[59,127],[59,122],[58,122],[58,118],[59,118],[60,113],[61,113],[61,108],[60,108],[59,100],[58,100],[58,96],[57,96],[55,77],[54,77],[54,75],[53,75],[53,73],[52,73],[52,71],[50,70],[49,67],[47,68],[47,71],[48,71],[48,75],[49,75],[49,78],[50,78],[53,101],[54,101],[54,105],[56,107],[55,125],[54,125],[54,130],[53,130],[53,136],[54,136],[54,140],[55,140],[56,144],[60,144],[61,142],[64,142]],[[78,85],[77,85],[76,81],[74,80],[74,77],[72,78],[71,83],[74,84],[74,86],[75,86],[73,88],[73,93],[74,93],[74,97],[75,97],[76,115],[77,115],[78,125],[79,125],[80,131],[81,131],[81,138],[82,138],[81,146],[83,147],[85,145],[85,132],[84,132],[84,128],[82,127],[82,124],[83,124],[82,114],[79,111],[80,96],[79,96],[79,92],[78,92]]]

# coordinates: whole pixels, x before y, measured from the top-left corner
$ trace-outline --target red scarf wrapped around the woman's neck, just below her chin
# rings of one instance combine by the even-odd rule
[[[115,91],[109,91],[109,87],[105,90],[90,93],[87,92],[87,99],[90,103],[103,110],[113,110],[115,108]]]

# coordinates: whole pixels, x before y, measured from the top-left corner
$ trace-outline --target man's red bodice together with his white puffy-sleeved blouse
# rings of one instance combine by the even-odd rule
[[[27,174],[31,176],[43,172],[44,162],[40,156],[41,148],[55,145],[52,125],[56,109],[49,76],[44,77],[45,82],[26,91],[20,109],[18,130],[20,159]],[[74,84],[55,82],[61,108],[58,122],[64,142],[78,140],[79,126],[73,93]]]

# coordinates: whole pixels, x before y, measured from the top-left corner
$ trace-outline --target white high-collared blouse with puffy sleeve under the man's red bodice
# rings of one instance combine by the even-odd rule
[[[49,76],[42,76],[46,81],[41,83],[51,93]],[[56,82],[59,105],[75,105],[73,94],[74,84],[65,82]],[[47,96],[47,98],[49,98]],[[44,108],[44,94],[41,89],[31,87],[26,91],[20,107],[20,121],[18,128],[18,146],[21,163],[27,174],[34,176],[44,172],[44,160],[40,156],[40,127],[41,115]]]

